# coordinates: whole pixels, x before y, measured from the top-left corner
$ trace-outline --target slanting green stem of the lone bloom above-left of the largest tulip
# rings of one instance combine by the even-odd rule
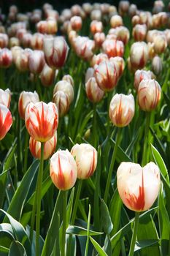
[[[113,170],[113,167],[115,165],[117,147],[118,147],[119,140],[120,140],[120,131],[121,131],[120,128],[118,128],[116,141],[115,141],[115,148],[114,148],[111,163],[110,163],[110,166],[109,166],[109,173],[108,173],[108,176],[107,176],[107,185],[106,185],[106,189],[105,189],[105,192],[104,192],[104,202],[105,203],[107,203],[107,198],[108,198],[108,195],[109,195],[109,186],[110,186],[110,182],[111,182],[111,178],[112,178],[112,170]]]

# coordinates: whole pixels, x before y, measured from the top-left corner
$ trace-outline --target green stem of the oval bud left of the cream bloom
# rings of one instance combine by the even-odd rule
[[[66,203],[67,203],[67,191],[63,191],[63,232],[61,243],[61,256],[65,256],[66,247]]]

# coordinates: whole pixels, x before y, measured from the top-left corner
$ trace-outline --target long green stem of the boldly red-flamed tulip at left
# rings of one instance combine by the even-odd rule
[[[41,193],[42,193],[42,177],[44,165],[44,145],[41,143],[41,159],[39,165],[39,174],[36,186],[36,256],[39,256],[39,233],[40,233],[40,214],[41,214]]]

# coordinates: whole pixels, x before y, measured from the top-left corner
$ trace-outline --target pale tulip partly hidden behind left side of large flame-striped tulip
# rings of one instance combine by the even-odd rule
[[[36,91],[22,91],[18,101],[18,111],[20,118],[25,119],[26,107],[30,102],[39,102],[39,95],[36,93]]]

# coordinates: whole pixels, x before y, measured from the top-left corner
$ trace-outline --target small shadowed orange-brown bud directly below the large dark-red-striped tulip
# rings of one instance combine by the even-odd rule
[[[45,63],[45,66],[40,74],[40,79],[43,86],[51,86],[55,79],[55,70],[48,67],[48,65]]]

